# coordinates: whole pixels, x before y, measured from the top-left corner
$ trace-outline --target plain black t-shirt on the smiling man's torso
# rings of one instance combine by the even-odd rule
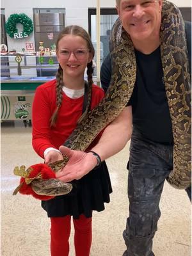
[[[136,50],[135,54],[136,83],[127,104],[132,106],[132,123],[149,140],[173,143],[160,47],[151,54],[143,54]]]

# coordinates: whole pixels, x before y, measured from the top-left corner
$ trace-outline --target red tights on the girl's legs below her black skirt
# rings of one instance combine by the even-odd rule
[[[51,256],[68,256],[70,217],[51,218]],[[92,218],[83,214],[74,220],[74,244],[76,256],[89,256],[92,245]]]

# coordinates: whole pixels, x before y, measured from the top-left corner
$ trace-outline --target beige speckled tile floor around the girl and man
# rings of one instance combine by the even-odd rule
[[[121,256],[125,250],[122,231],[128,214],[127,170],[129,143],[108,159],[113,185],[111,202],[93,214],[93,244],[90,256]],[[31,127],[23,123],[1,125],[1,256],[49,256],[49,219],[40,201],[31,196],[12,196],[19,184],[13,168],[42,163],[31,147]],[[73,230],[70,256],[75,256]],[[161,219],[154,238],[156,256],[191,255],[191,205],[185,191],[164,184]]]

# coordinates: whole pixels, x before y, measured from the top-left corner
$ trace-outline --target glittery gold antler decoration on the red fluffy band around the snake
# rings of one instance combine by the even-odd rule
[[[29,178],[29,174],[31,173],[31,171],[33,171],[33,168],[29,167],[26,170],[26,166],[22,165],[20,166],[20,168],[18,166],[16,166],[13,170],[13,173],[17,176],[23,177],[25,178],[25,182],[27,185],[29,185],[33,180],[35,179],[42,179],[42,174],[38,173],[35,177],[33,178]],[[22,187],[22,184],[24,182],[20,183],[19,186],[17,188],[15,188],[15,190],[13,191],[13,195],[17,195],[17,193],[19,192],[19,189]]]

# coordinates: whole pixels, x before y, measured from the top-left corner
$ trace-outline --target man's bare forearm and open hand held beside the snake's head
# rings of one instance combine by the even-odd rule
[[[106,127],[95,147],[94,152],[99,154],[104,161],[122,150],[132,134],[132,109],[125,107],[120,115]],[[60,151],[69,157],[69,161],[61,172],[56,173],[56,177],[63,182],[81,179],[97,165],[97,158],[92,152],[84,153],[78,150],[70,150],[61,146]]]

